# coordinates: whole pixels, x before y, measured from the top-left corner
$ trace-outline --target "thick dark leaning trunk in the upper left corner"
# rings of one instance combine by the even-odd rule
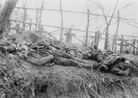
[[[0,13],[0,39],[3,36],[5,27],[9,21],[9,18],[13,12],[14,7],[16,6],[18,0],[7,0],[2,12]]]

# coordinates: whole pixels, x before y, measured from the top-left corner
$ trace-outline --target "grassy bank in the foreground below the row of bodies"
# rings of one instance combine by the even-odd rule
[[[137,98],[136,78],[69,66],[37,67],[13,55],[0,60],[1,98]]]

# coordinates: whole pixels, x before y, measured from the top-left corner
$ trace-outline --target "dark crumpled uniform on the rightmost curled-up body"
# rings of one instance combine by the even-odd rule
[[[125,58],[118,55],[110,55],[105,59],[100,70],[120,76],[130,75],[130,64],[125,63]]]

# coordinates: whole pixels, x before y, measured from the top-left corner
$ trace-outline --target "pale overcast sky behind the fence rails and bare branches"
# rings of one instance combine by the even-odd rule
[[[1,3],[3,1],[5,0],[2,0]],[[19,0],[17,6],[22,6],[22,1],[23,0]],[[90,0],[90,1],[96,2],[96,0]],[[99,0],[99,2],[103,6],[105,13],[107,14],[110,11],[109,15],[111,15],[117,0]],[[27,0],[27,7],[29,8],[30,7],[35,8],[36,6],[40,8],[41,4],[42,4],[42,0]],[[124,6],[129,4],[131,6],[120,11],[120,17],[134,19],[135,22],[138,22],[138,12],[137,12],[138,0],[119,0],[117,10],[120,10]],[[99,10],[99,8],[95,4],[90,3],[88,0],[62,0],[62,7],[63,7],[63,10],[79,11],[79,12],[86,12],[87,9],[90,9],[91,13],[102,15],[102,11]],[[60,8],[59,0],[45,0],[44,8],[59,9]],[[29,17],[35,18],[35,11],[28,11],[27,13]],[[86,29],[86,20],[87,20],[86,14],[63,13],[63,18],[64,18],[64,27],[71,27],[72,25],[74,25],[74,28],[76,29],[81,29],[81,30]],[[60,26],[61,25],[60,21],[61,21],[60,12],[43,11],[42,24]],[[109,29],[110,34],[115,34],[116,26],[117,26],[116,19],[113,19],[113,24],[114,25],[111,25]],[[133,24],[133,25],[138,27],[138,24]],[[127,23],[120,21],[118,34],[138,36],[137,27],[131,26]],[[103,17],[90,16],[89,31],[100,30],[102,32],[104,28],[105,28],[105,20]],[[47,31],[56,30],[54,28],[48,28],[48,27],[46,27],[45,29]],[[85,35],[84,32],[73,31],[73,33],[75,33],[78,36]],[[83,40],[83,38],[81,38],[81,40]]]

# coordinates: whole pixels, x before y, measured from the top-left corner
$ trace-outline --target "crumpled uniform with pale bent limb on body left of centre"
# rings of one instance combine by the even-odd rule
[[[30,47],[30,52],[25,57],[25,60],[36,66],[44,66],[47,63],[52,63],[53,55],[49,51],[51,47],[44,41],[33,43]]]

